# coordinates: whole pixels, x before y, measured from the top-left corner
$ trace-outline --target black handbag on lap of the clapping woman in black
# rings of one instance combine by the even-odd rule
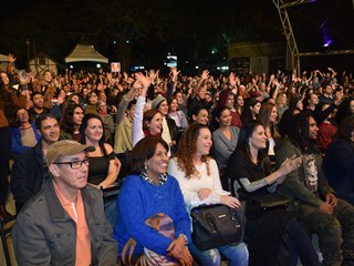
[[[239,196],[247,201],[246,212],[250,215],[261,215],[272,209],[287,209],[292,203],[292,198],[278,193],[267,193],[261,195],[239,193]]]

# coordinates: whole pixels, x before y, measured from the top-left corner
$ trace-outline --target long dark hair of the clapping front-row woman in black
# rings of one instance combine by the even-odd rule
[[[263,127],[263,125],[257,121],[249,122],[249,123],[246,123],[244,125],[242,125],[235,152],[241,151],[242,153],[244,153],[247,155],[247,157],[249,160],[251,160],[250,139],[258,126]],[[262,149],[259,150],[257,157],[258,157],[258,162],[260,162],[262,167],[266,167],[266,171],[271,173],[271,164],[270,164],[270,160],[267,155],[267,152]]]

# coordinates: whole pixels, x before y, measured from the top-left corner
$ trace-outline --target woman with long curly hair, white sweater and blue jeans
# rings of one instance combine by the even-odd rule
[[[240,202],[221,187],[217,163],[208,156],[211,144],[209,129],[195,123],[185,130],[177,152],[169,161],[168,173],[177,178],[188,213],[201,204],[222,203],[232,208],[240,206]],[[228,258],[229,265],[248,265],[248,249],[244,243],[209,250],[200,250],[194,243],[189,243],[188,247],[200,265],[219,266],[220,253]]]

